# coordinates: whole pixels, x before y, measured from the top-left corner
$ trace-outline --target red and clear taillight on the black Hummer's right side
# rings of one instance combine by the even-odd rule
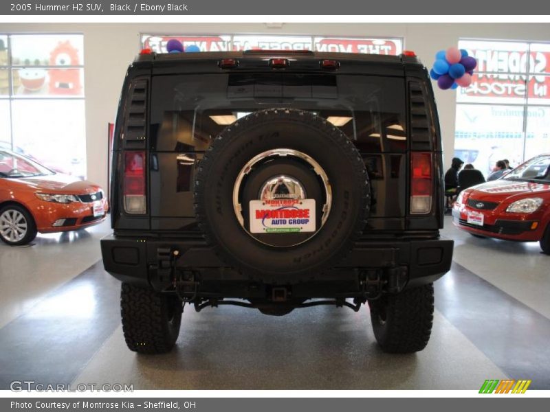
[[[410,154],[410,213],[428,214],[432,209],[432,154]]]

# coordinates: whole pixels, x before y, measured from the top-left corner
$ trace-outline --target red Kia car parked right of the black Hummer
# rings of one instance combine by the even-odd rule
[[[550,155],[533,157],[501,179],[464,190],[454,203],[452,220],[474,236],[538,241],[550,254]]]

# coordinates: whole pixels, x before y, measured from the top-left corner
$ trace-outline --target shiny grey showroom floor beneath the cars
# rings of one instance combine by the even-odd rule
[[[536,244],[479,240],[448,223],[444,234],[456,240],[461,266],[437,284],[442,297],[436,296],[428,347],[405,356],[378,350],[365,308],[316,307],[266,317],[227,306],[201,313],[186,308],[176,350],[139,356],[124,345],[118,283],[100,264],[89,268],[100,259],[98,238],[109,232],[106,224],[77,236],[39,237],[30,248],[0,245],[0,343],[9,347],[1,382],[5,387],[10,379],[34,376],[133,383],[135,389],[477,389],[487,378],[530,378],[511,376],[517,363],[503,361],[503,342],[506,336],[514,342],[518,330],[531,328],[537,339],[550,333],[544,299],[550,257]],[[482,302],[487,295],[491,301]],[[484,328],[474,310],[481,303],[480,310],[492,304],[503,310],[500,328]],[[529,328],[514,327],[517,317],[529,319]],[[63,328],[67,334],[54,333]],[[518,362],[533,374],[540,371],[529,365],[528,352],[542,347],[537,340],[534,345]],[[63,361],[65,354],[70,362]],[[50,361],[32,363],[32,356]]]

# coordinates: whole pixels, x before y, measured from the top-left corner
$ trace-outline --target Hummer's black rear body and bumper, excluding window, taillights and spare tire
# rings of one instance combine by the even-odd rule
[[[273,76],[276,72],[269,65],[273,57],[288,60],[284,70],[288,74],[384,76],[404,84],[404,95],[397,96],[406,104],[404,135],[378,145],[375,139],[353,141],[369,172],[373,199],[362,240],[336,268],[314,278],[288,279],[284,274],[279,279],[252,278],[221,262],[203,240],[193,209],[197,163],[208,144],[173,141],[163,146],[153,138],[163,122],[151,108],[155,79],[206,74]],[[236,60],[236,67],[221,69],[221,59]],[[320,61],[325,59],[338,60],[338,70],[322,69]],[[140,112],[142,101],[144,110]],[[146,153],[146,213],[142,215],[124,211],[124,152],[128,150]],[[433,168],[432,207],[428,214],[417,216],[409,213],[410,153],[415,151],[430,152]],[[364,296],[370,277],[382,279],[384,292],[398,293],[433,282],[450,269],[452,241],[439,238],[443,227],[439,120],[426,68],[408,56],[292,52],[139,56],[122,87],[110,189],[114,234],[101,242],[105,269],[123,282],[158,291],[173,291],[175,276],[184,279],[186,273],[192,273],[200,279],[202,298],[265,298],[265,288],[274,284],[292,285],[294,297],[359,297]],[[178,252],[177,259],[167,263],[166,253],[173,251]]]

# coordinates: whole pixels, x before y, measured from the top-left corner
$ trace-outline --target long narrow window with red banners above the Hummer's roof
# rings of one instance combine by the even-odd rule
[[[385,54],[397,56],[403,50],[402,38],[342,38],[320,36],[251,36],[188,34],[142,34],[142,48],[166,53],[166,43],[177,38],[184,47],[196,46],[201,52],[228,52],[239,50],[315,50],[316,52],[342,52]]]

